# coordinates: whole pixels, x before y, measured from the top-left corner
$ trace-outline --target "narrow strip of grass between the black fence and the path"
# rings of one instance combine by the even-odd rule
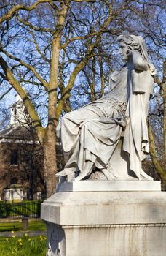
[[[0,232],[14,230],[14,222],[0,222]],[[44,231],[46,225],[42,220],[36,220],[29,222],[28,231]],[[22,222],[15,222],[15,231],[22,231]]]

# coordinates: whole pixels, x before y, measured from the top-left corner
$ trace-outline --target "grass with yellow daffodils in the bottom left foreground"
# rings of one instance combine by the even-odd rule
[[[12,238],[0,237],[0,256],[45,256],[46,237],[28,237],[27,234]]]

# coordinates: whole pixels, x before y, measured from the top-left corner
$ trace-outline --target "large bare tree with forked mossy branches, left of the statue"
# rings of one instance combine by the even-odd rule
[[[4,82],[9,83],[31,117],[44,150],[47,197],[55,190],[58,118],[67,108],[77,75],[95,55],[103,34],[110,33],[108,26],[114,19],[111,2],[101,1],[95,9],[94,2],[1,2],[1,87]],[[101,5],[105,9],[97,23]],[[90,18],[94,10],[95,15]],[[41,106],[47,111],[45,126],[37,111]]]

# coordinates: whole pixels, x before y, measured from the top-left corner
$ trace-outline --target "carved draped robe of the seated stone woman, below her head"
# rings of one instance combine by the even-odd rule
[[[139,75],[141,77],[142,74]],[[143,75],[145,77],[144,72]],[[138,178],[143,173],[141,161],[149,152],[146,116],[154,80],[151,77],[149,85],[142,85],[144,91],[139,88],[134,91],[132,76],[135,78],[133,68],[117,69],[111,75],[110,90],[106,97],[63,117],[63,150],[71,152],[65,168],[77,167],[80,172],[77,180],[90,175],[92,165],[93,170],[104,169],[106,173],[122,129],[125,129],[123,150],[129,154],[130,170]]]

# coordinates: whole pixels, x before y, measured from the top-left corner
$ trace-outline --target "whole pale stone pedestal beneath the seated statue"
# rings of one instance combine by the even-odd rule
[[[42,204],[47,256],[165,255],[166,192],[159,191],[159,181],[146,181],[149,191],[132,191],[131,183],[128,191],[109,191],[105,181],[88,182],[91,191],[78,189],[86,184],[78,181],[70,185],[71,192],[57,192]],[[97,191],[96,184],[106,189]]]

